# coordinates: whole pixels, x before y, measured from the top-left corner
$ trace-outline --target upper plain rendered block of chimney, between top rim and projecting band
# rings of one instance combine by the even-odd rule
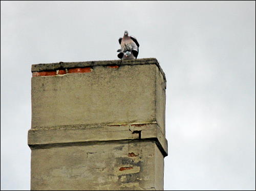
[[[32,128],[158,122],[164,133],[160,107],[165,90],[161,93],[164,82],[159,76],[155,64],[143,64],[32,77]]]

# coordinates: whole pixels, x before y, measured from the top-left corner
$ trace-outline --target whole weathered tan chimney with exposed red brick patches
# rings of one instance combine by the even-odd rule
[[[155,58],[32,65],[31,190],[163,190]]]

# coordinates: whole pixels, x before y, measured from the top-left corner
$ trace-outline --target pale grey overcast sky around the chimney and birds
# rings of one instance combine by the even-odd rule
[[[1,1],[1,189],[30,189],[31,64],[114,60],[166,79],[166,190],[255,189],[255,1]]]

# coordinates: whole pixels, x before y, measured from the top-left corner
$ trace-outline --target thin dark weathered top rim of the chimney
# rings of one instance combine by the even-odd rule
[[[93,66],[109,66],[109,65],[142,65],[142,64],[156,64],[161,71],[161,74],[166,81],[165,74],[160,67],[156,58],[140,58],[133,60],[99,60],[99,61],[84,61],[84,62],[56,62],[56,63],[40,63],[32,64],[31,72],[35,71],[49,71],[56,69],[66,69],[75,67],[93,67]]]

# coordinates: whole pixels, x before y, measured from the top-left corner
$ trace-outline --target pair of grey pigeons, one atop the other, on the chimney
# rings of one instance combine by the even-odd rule
[[[128,31],[124,31],[123,38],[119,38],[121,49],[117,50],[117,57],[120,59],[137,59],[139,54],[139,43],[134,36],[129,36]]]

